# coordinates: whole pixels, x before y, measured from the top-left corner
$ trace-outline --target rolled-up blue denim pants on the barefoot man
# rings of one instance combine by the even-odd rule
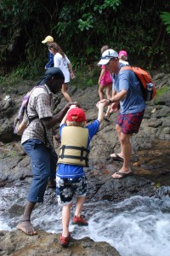
[[[30,139],[22,146],[31,159],[33,173],[27,201],[42,202],[48,178],[55,179],[56,176],[57,154],[37,139]]]

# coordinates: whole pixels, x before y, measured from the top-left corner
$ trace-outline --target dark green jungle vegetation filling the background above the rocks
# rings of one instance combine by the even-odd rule
[[[0,81],[9,72],[33,78],[44,71],[51,35],[74,70],[94,67],[100,48],[126,49],[145,69],[167,68],[170,4],[165,0],[1,0]]]

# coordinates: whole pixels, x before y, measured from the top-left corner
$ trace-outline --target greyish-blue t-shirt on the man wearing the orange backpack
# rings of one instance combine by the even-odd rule
[[[120,64],[120,68],[124,65]],[[127,96],[120,102],[121,113],[137,113],[145,108],[144,98],[142,96],[141,85],[139,79],[131,70],[123,70],[116,74],[113,79],[113,90],[116,93],[121,90],[127,90]]]

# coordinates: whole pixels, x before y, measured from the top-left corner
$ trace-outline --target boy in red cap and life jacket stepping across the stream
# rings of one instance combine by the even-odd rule
[[[82,108],[71,106],[65,114],[59,127],[61,145],[59,148],[58,169],[56,174],[57,199],[62,209],[63,232],[60,236],[60,244],[67,247],[71,240],[69,222],[73,196],[77,198],[75,216],[72,224],[88,225],[82,217],[82,206],[87,192],[87,183],[83,166],[88,166],[89,143],[99,130],[99,124],[103,120],[104,104],[98,105],[98,119],[90,125],[86,125],[87,119]]]

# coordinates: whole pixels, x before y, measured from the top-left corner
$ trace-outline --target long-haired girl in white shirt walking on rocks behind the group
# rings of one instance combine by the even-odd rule
[[[62,93],[65,96],[67,102],[71,101],[71,96],[67,92],[67,85],[70,82],[70,79],[74,79],[75,75],[72,71],[71,61],[65,55],[63,50],[59,47],[57,43],[48,44],[48,49],[51,53],[54,54],[54,67],[59,67],[59,69],[64,73],[65,83],[62,85]]]

